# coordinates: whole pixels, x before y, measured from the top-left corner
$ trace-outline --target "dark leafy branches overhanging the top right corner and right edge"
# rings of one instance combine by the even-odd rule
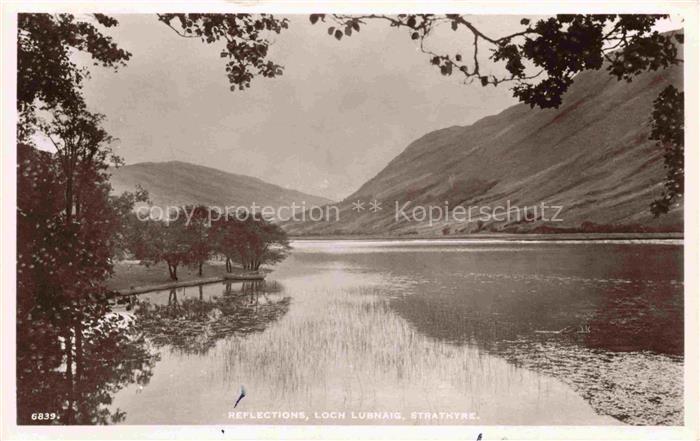
[[[478,29],[469,16],[458,14],[326,15],[312,14],[312,24],[328,23],[328,35],[341,40],[361,30],[369,21],[384,21],[407,30],[417,40],[420,50],[430,57],[440,73],[461,75],[465,82],[478,81],[482,86],[512,84],[513,96],[530,107],[558,108],[562,97],[585,70],[605,70],[618,80],[632,79],[646,71],[664,69],[682,62],[678,54],[683,34],[661,34],[653,26],[667,15],[640,14],[561,14],[535,21],[520,21],[522,29],[503,36],[489,36]],[[438,53],[428,49],[427,41],[435,31],[449,26],[470,36],[465,51]],[[493,74],[480,60],[480,49],[490,49],[491,64],[504,63],[505,74]],[[662,199],[651,205],[654,215],[668,212],[672,203],[683,196],[683,94],[670,86],[657,98],[652,112],[651,139],[664,148],[667,178]],[[663,101],[664,105],[659,104]],[[674,106],[673,108],[671,108]],[[663,109],[663,110],[661,110]],[[659,118],[665,118],[661,121]],[[675,134],[662,135],[663,127],[675,127]],[[670,140],[673,138],[673,141]],[[680,156],[679,156],[680,155]]]

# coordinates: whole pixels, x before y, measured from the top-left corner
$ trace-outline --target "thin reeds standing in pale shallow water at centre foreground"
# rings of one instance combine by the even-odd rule
[[[264,395],[261,403],[314,410],[452,410],[506,421],[494,401],[515,393],[528,405],[541,394],[569,393],[477,347],[420,334],[389,309],[387,293],[377,286],[315,287],[293,298],[290,313],[265,333],[234,337],[221,347],[227,381],[246,384],[251,397]]]

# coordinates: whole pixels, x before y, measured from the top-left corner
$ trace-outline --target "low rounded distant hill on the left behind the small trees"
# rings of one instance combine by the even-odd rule
[[[250,176],[237,175],[187,162],[142,162],[110,170],[113,191],[134,191],[139,184],[155,205],[245,206],[253,202],[272,207],[325,205],[331,202],[296,190],[282,188]]]

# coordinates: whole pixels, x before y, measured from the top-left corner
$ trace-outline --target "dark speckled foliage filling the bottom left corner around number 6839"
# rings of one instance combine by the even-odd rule
[[[40,318],[18,326],[18,424],[125,420],[126,412],[111,406],[113,395],[129,384],[147,385],[158,355],[129,329],[128,317],[105,311],[105,305],[84,307],[80,326]]]

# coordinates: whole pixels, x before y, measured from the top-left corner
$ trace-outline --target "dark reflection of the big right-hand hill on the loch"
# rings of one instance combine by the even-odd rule
[[[682,423],[681,247],[474,253],[446,259],[423,251],[420,265],[415,254],[397,253],[384,268],[373,255],[361,258],[402,280],[390,303],[420,332],[558,378],[621,421]]]

